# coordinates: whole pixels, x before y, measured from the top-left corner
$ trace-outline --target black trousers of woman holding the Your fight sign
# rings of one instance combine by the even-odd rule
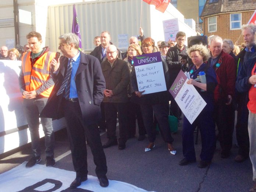
[[[141,104],[141,113],[150,143],[156,140],[156,126],[154,125],[154,115],[159,125],[159,130],[164,142],[173,143],[171,130],[168,123],[168,103],[166,104]],[[154,115],[153,115],[154,111]]]

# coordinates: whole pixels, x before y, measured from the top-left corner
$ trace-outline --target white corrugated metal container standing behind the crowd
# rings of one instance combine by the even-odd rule
[[[93,38],[107,30],[111,34],[111,42],[118,45],[118,34],[137,36],[140,22],[145,37],[151,36],[156,42],[164,40],[163,22],[167,19],[179,18],[184,23],[184,16],[171,4],[166,12],[157,11],[154,5],[148,5],[140,0],[101,0],[75,4],[80,26],[82,49],[93,49]],[[141,21],[142,5],[142,21]],[[49,6],[49,46],[52,51],[58,48],[58,37],[71,32],[73,19],[73,4]],[[186,24],[187,37],[196,32]],[[188,34],[189,33],[189,34]],[[118,47],[118,46],[117,46]]]

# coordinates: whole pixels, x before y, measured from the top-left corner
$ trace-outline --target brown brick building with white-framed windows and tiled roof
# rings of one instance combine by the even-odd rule
[[[256,0],[207,0],[203,8],[203,32],[243,43],[241,26],[247,24],[256,9]]]

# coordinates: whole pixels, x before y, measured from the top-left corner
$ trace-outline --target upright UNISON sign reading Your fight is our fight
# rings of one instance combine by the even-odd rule
[[[139,91],[145,90],[142,94],[167,90],[160,52],[135,56],[134,69]]]

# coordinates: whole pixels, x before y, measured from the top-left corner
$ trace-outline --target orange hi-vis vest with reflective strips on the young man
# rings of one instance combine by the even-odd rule
[[[54,52],[45,52],[36,62],[31,66],[30,53],[27,52],[22,56],[22,70],[24,74],[26,91],[37,90],[45,81],[50,78],[50,62],[55,57]],[[53,85],[54,86],[54,85]],[[53,86],[46,89],[40,95],[49,97]],[[23,98],[25,98],[23,96]]]

